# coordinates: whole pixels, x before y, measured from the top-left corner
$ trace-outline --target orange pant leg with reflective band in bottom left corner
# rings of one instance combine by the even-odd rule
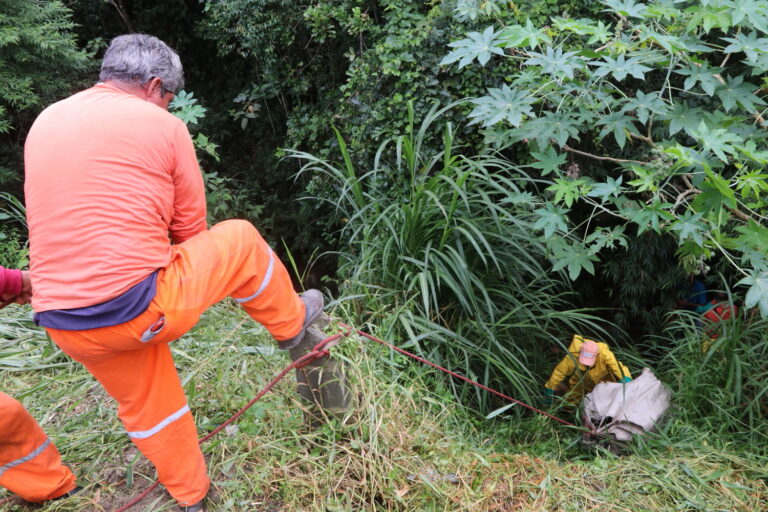
[[[43,429],[5,393],[0,393],[0,485],[33,503],[75,488],[75,475]]]

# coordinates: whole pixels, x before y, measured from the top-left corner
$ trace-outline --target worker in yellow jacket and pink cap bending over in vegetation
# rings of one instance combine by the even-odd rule
[[[578,403],[585,393],[592,391],[599,382],[629,382],[632,376],[629,369],[616,359],[605,343],[598,343],[575,334],[568,354],[552,371],[544,384],[548,401],[552,400],[555,390],[567,378],[567,400]]]

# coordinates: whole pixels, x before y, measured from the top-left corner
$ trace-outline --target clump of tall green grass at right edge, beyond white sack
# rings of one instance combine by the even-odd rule
[[[733,297],[729,294],[728,300]],[[680,314],[652,340],[674,414],[723,436],[768,439],[768,319],[753,311],[712,324]]]

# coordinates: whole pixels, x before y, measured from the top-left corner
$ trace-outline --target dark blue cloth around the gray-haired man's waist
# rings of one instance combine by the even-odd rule
[[[35,313],[35,324],[63,331],[84,331],[119,325],[146,311],[156,293],[157,270],[122,295],[101,304]]]

